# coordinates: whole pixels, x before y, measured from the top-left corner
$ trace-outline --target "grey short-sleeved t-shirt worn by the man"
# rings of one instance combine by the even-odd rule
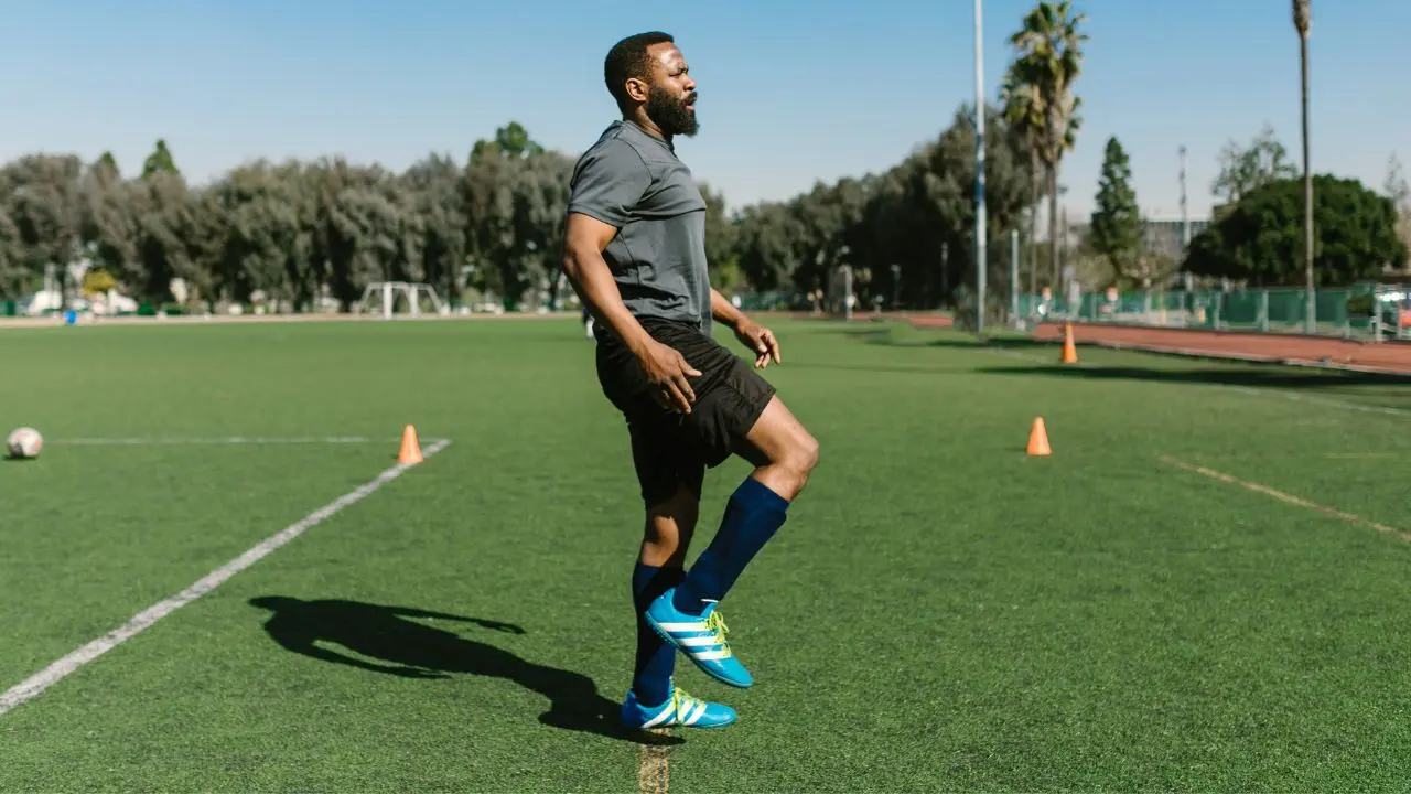
[[[622,302],[711,332],[706,199],[670,144],[614,122],[573,168],[569,212],[617,226],[602,251]]]

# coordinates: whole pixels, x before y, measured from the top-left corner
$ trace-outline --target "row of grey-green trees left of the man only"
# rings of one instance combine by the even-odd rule
[[[199,188],[165,141],[133,177],[111,154],[27,155],[0,168],[0,295],[85,257],[154,304],[172,300],[174,278],[200,302],[262,292],[285,311],[323,295],[347,308],[373,281],[518,300],[553,267],[571,167],[514,123],[464,162],[430,154],[396,174],[261,160]]]

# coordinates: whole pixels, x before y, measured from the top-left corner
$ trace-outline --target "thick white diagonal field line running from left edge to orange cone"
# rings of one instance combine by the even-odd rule
[[[444,449],[446,445],[449,444],[450,441],[446,439],[430,444],[425,451],[422,451],[422,458],[423,459],[430,458],[432,455]],[[325,504],[323,507],[319,507],[313,513],[309,513],[303,519],[299,519],[298,521],[289,524],[284,530],[260,541],[240,557],[231,559],[230,562],[226,562],[224,565],[216,568],[210,574],[206,574],[185,591],[165,600],[157,602],[152,606],[144,609],[143,612],[138,612],[127,623],[123,623],[121,626],[109,632],[107,634],[75,650],[73,653],[45,667],[40,672],[35,672],[30,678],[11,687],[4,694],[0,694],[0,715],[4,715],[10,709],[40,697],[41,692],[58,684],[61,680],[75,672],[78,668],[103,656],[104,653],[116,648],[121,643],[135,637],[138,633],[151,627],[162,617],[166,617],[172,612],[176,612],[178,609],[186,606],[188,603],[216,589],[226,579],[230,579],[236,574],[244,571],[246,568],[250,568],[264,557],[268,557],[277,548],[302,535],[303,533],[312,530],[313,527],[322,524],[323,521],[333,517],[343,509],[350,507],[367,499],[384,485],[399,478],[409,468],[412,468],[411,463],[398,463],[384,470],[377,478],[360,485],[358,487],[344,493],[343,496],[334,499],[333,502]]]

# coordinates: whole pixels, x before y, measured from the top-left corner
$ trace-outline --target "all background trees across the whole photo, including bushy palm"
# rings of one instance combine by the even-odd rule
[[[1061,249],[1060,171],[1082,129],[1084,24],[1068,0],[1037,3],[1009,37],[999,102],[983,107],[992,311],[1012,288],[1012,230],[1022,239],[1022,292],[1057,290],[1065,263],[1086,287],[1160,284],[1180,268],[1271,284],[1297,270],[1297,174],[1267,131],[1222,153],[1213,189],[1226,205],[1184,261],[1144,250],[1130,162],[1109,138],[1088,233]],[[935,138],[883,172],[818,182],[789,201],[732,211],[703,184],[715,285],[820,302],[848,266],[864,305],[962,304],[975,281],[975,110],[962,103]],[[0,298],[32,292],[47,267],[86,259],[95,284],[151,304],[174,300],[174,278],[207,308],[262,297],[277,311],[349,309],[374,281],[429,283],[464,302],[557,304],[574,157],[514,122],[464,158],[429,154],[402,172],[343,158],[254,161],[200,186],[165,141],[131,175],[111,154],[93,162],[32,154],[0,167]],[[1398,220],[1395,198],[1319,179],[1326,261],[1318,264],[1328,281],[1405,263],[1397,223],[1411,212],[1403,206]],[[83,287],[58,270],[65,291]]]

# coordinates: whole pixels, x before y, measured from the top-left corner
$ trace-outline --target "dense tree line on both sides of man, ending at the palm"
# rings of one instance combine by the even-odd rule
[[[986,112],[989,219],[1005,235],[1026,211],[1030,174],[1022,141]],[[701,184],[715,285],[817,292],[851,264],[859,294],[940,304],[974,277],[974,140],[964,106],[885,174],[734,213]],[[320,298],[347,309],[374,281],[429,283],[453,300],[555,301],[567,288],[557,250],[573,164],[518,123],[463,161],[430,154],[402,172],[341,158],[254,161],[202,186],[164,141],[133,175],[110,154],[25,155],[0,167],[0,298],[31,294],[47,266],[86,259],[96,283],[154,305],[174,300],[174,278],[195,304],[262,295],[279,311]],[[1005,278],[1007,259],[996,261],[993,277]]]

